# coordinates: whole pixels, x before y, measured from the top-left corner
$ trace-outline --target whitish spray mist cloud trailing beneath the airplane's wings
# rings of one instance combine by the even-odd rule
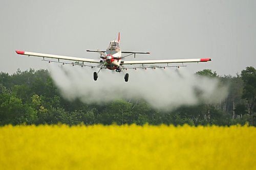
[[[227,87],[218,79],[207,78],[186,69],[130,69],[129,82],[124,75],[98,68],[70,65],[49,65],[50,75],[63,98],[79,99],[86,104],[106,104],[118,99],[143,99],[155,109],[172,110],[179,106],[200,103],[215,104],[227,96]]]

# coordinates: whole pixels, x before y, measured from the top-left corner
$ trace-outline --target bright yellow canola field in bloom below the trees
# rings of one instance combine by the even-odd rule
[[[256,169],[256,128],[0,127],[0,169]]]

